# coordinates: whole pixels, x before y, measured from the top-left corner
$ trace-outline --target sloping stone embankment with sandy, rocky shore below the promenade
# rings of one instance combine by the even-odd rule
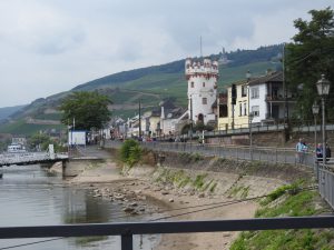
[[[89,187],[96,189],[97,197],[110,200],[125,199],[121,201],[125,202],[125,209],[129,207],[128,204],[141,202],[138,206],[141,208],[139,213],[149,210],[141,206],[148,203],[147,199],[157,201],[160,208],[175,216],[171,218],[174,220],[253,218],[257,203],[252,200],[203,212],[194,212],[194,207],[259,197],[296,179],[312,179],[312,171],[302,167],[235,161],[188,153],[149,151],[145,153],[140,164],[130,169],[117,166],[114,160],[115,156],[110,153],[110,159],[105,162],[87,163],[70,183],[89,183]],[[157,210],[154,217],[159,217]],[[237,232],[168,234],[163,237],[160,244],[155,249],[228,249],[236,237]]]

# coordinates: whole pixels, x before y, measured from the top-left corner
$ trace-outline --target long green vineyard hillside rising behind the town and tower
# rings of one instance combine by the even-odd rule
[[[277,56],[282,46],[262,47],[257,50],[237,50],[227,53],[228,64],[219,67],[218,91],[224,91],[226,84],[245,79],[249,70],[253,76],[264,74],[267,69],[275,70]],[[222,54],[212,54],[208,58],[218,60]],[[275,59],[275,60],[274,60]],[[196,58],[194,60],[197,60]],[[29,106],[21,108],[11,116],[11,122],[1,124],[0,132],[17,134],[32,133],[39,130],[62,128],[52,124],[27,124],[26,118],[38,120],[58,120],[61,113],[57,108],[72,91],[97,90],[110,97],[114,102],[114,116],[127,119],[138,113],[138,103],[143,110],[157,107],[158,103],[171,98],[177,106],[187,104],[187,81],[185,79],[185,60],[178,60],[161,66],[147,67],[106,76],[94,81],[80,84],[70,91],[56,93],[46,99],[40,98]]]

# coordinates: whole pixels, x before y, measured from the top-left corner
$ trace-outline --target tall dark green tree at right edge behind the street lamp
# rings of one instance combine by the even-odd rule
[[[317,100],[315,83],[325,74],[332,82],[327,107],[334,106],[334,12],[328,7],[324,10],[311,10],[311,21],[294,21],[298,30],[292,43],[286,47],[286,77],[289,88],[299,92],[297,112],[302,119],[312,119],[312,103]],[[299,88],[298,88],[299,87]],[[301,88],[303,87],[303,88]],[[327,109],[334,117],[334,110]]]

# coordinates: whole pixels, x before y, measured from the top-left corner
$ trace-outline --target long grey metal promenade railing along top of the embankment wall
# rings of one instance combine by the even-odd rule
[[[120,147],[120,142],[108,142],[107,147]],[[320,194],[334,209],[334,159],[330,159],[325,168],[317,161],[314,152],[296,153],[294,148],[269,148],[247,146],[199,144],[188,142],[141,142],[147,149],[166,152],[199,153],[227,159],[262,161],[269,163],[305,166],[314,171],[318,181]]]

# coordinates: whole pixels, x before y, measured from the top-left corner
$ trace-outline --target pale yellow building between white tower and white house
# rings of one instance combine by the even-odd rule
[[[235,104],[232,104],[233,86],[235,86]],[[218,130],[249,128],[248,82],[245,80],[228,86],[226,92],[227,96],[219,99]]]

